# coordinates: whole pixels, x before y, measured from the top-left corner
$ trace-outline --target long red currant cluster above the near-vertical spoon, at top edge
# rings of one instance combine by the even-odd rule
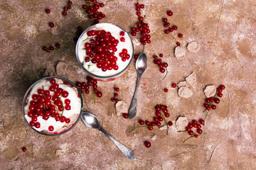
[[[144,4],[139,4],[136,3],[135,4],[135,9],[137,11],[137,16],[138,16],[138,23],[137,23],[137,27],[132,27],[131,28],[131,35],[135,36],[137,35],[137,33],[140,31],[142,37],[140,39],[140,42],[142,43],[142,45],[146,45],[146,43],[150,43],[150,30],[149,30],[149,24],[144,22],[144,18],[141,16],[141,12],[140,10],[144,8]]]

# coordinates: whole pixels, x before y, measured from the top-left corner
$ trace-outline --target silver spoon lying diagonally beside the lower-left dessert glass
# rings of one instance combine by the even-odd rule
[[[110,134],[108,134],[100,125],[100,121],[97,119],[95,115],[92,113],[83,112],[82,113],[82,122],[85,123],[89,128],[95,128],[97,130],[100,130],[102,133],[104,133],[107,137],[114,142],[115,145],[121,150],[121,152],[127,157],[128,159],[135,159],[135,154],[130,150],[128,147],[125,147],[121,143],[117,142]]]

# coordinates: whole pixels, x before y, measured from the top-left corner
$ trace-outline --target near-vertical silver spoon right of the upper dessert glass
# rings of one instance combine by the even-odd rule
[[[135,69],[137,71],[138,77],[137,77],[136,89],[134,92],[134,96],[132,98],[132,103],[131,103],[131,105],[129,107],[129,111],[128,111],[128,115],[129,115],[130,119],[134,118],[135,115],[137,114],[137,94],[138,94],[138,89],[139,89],[139,81],[142,77],[142,74],[145,72],[146,67],[147,67],[147,58],[146,58],[146,55],[144,53],[142,53],[137,58],[137,61],[135,64]]]

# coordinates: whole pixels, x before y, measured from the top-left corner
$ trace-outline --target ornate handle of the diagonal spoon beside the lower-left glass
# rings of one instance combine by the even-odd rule
[[[130,150],[128,147],[125,147],[120,142],[115,140],[114,137],[110,136],[110,134],[108,134],[102,127],[100,127],[99,130],[102,133],[104,133],[107,137],[109,137],[110,140],[112,140],[112,142],[114,142],[115,145],[117,145],[117,147],[121,150],[121,152],[125,155],[125,157],[127,157],[128,159],[135,159],[135,154],[134,152],[132,152],[132,150]]]

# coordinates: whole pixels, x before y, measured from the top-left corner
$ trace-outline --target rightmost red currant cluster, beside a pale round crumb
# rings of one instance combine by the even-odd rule
[[[224,89],[225,89],[225,86],[224,86],[224,85],[220,85],[220,86],[218,87],[217,91],[216,91],[215,96],[212,96],[212,97],[210,97],[210,98],[206,98],[206,103],[204,103],[203,106],[206,107],[206,110],[207,110],[207,111],[210,111],[210,108],[212,108],[212,109],[215,109],[215,108],[216,108],[216,106],[215,106],[214,103],[216,103],[216,104],[220,103],[220,99],[217,98],[217,96],[221,98],[221,97],[223,96],[223,94],[222,94],[221,92],[222,92]],[[214,102],[214,103],[213,103],[213,102]]]

